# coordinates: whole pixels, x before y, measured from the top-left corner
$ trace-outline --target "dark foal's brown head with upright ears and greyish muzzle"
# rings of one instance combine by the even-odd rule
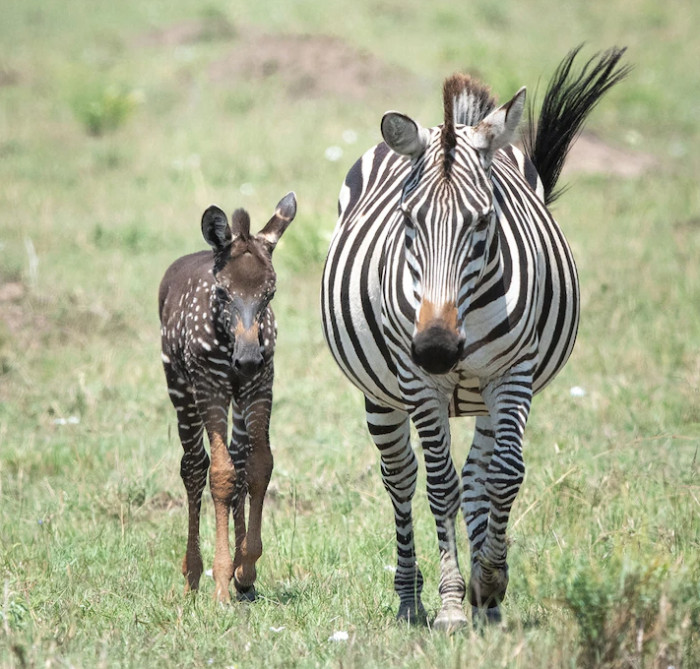
[[[226,214],[212,205],[202,215],[202,235],[214,249],[215,311],[233,344],[232,365],[251,377],[264,364],[263,320],[275,294],[272,251],[296,215],[296,197],[288,193],[257,234],[250,234],[250,217],[236,209],[229,227]]]

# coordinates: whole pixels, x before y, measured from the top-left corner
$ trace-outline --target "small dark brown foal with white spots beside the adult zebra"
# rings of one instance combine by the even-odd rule
[[[209,471],[216,514],[214,596],[221,602],[230,600],[232,578],[239,599],[255,597],[263,500],[272,473],[269,424],[276,324],[270,300],[276,277],[271,256],[295,214],[296,198],[289,193],[267,225],[251,235],[243,209],[233,213],[229,227],[226,214],[209,207],[202,216],[202,234],[213,252],[176,260],[160,285],[163,366],[185,451],[180,466],[189,504],[182,563],[185,591],[196,590],[202,575],[199,515]],[[211,461],[204,449],[205,430]],[[236,535],[233,561],[229,511]]]

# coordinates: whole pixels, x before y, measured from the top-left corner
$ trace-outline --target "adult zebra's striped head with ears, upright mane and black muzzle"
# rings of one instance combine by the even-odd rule
[[[411,160],[399,208],[415,304],[411,357],[431,374],[462,358],[464,320],[496,234],[491,163],[510,143],[525,89],[495,108],[488,89],[469,77],[445,82],[445,123],[426,129],[387,112],[382,135]]]

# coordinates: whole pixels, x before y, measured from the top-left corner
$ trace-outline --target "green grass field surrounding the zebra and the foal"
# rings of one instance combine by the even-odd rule
[[[700,666],[697,2],[0,7],[0,666]],[[336,196],[386,109],[439,123],[442,78],[459,69],[502,100],[542,90],[582,41],[628,45],[635,70],[588,126],[609,149],[603,171],[569,173],[556,204],[582,321],[526,433],[505,622],[407,628],[361,396],[320,330]],[[621,155],[646,169],[619,174]],[[157,287],[205,247],[210,203],[261,226],[292,189],[261,596],[224,608],[211,579],[182,593]],[[453,429],[461,463],[472,423]],[[422,484],[415,508],[434,615]],[[207,566],[213,536],[206,495]]]

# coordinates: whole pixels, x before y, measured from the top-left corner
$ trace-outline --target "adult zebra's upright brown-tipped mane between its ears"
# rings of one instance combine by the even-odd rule
[[[468,74],[453,74],[442,85],[445,122],[440,136],[445,176],[452,166],[452,150],[457,144],[455,124],[476,125],[496,107],[496,100],[485,84]]]

